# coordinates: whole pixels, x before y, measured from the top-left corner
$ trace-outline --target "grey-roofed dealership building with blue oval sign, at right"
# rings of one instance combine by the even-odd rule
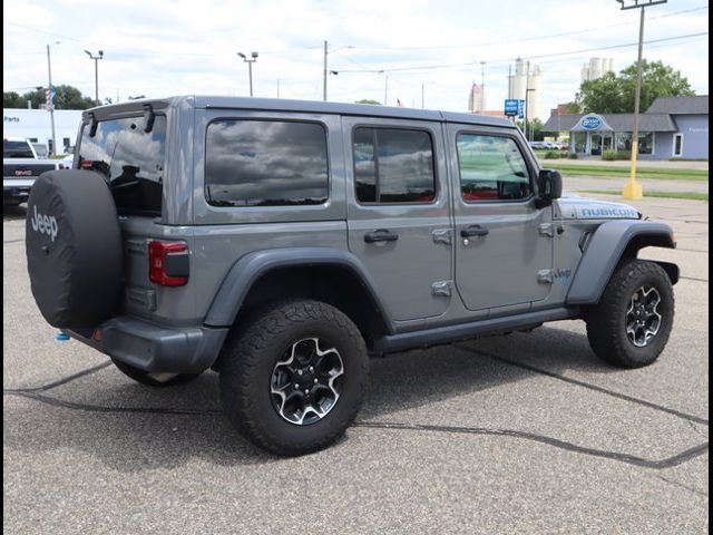
[[[631,150],[634,114],[553,115],[543,126],[551,134],[569,133],[569,152],[602,156],[604,150]],[[641,159],[709,159],[709,96],[658,97],[639,116]]]

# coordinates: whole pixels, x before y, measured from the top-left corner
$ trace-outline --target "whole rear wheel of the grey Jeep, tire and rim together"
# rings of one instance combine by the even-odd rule
[[[326,303],[295,300],[257,313],[226,341],[221,400],[236,429],[277,455],[338,440],[356,417],[369,376],[356,325]]]

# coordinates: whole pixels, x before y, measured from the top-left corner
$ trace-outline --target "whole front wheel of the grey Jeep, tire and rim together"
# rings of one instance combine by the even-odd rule
[[[612,275],[587,313],[587,338],[602,360],[621,368],[656,361],[673,327],[673,286],[656,263],[632,260]]]

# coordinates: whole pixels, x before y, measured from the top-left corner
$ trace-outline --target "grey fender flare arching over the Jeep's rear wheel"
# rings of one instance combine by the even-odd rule
[[[364,264],[349,251],[331,247],[285,247],[255,251],[238,259],[225,275],[208,309],[204,323],[208,327],[229,327],[245,301],[253,284],[275,269],[304,266],[338,266],[348,270],[371,296],[389,332],[394,325],[387,307],[375,292],[375,284]]]

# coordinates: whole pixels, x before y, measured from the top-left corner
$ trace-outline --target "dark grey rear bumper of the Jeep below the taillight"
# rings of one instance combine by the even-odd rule
[[[121,317],[96,329],[68,329],[66,332],[140,370],[198,373],[215,362],[228,329],[165,327]]]

